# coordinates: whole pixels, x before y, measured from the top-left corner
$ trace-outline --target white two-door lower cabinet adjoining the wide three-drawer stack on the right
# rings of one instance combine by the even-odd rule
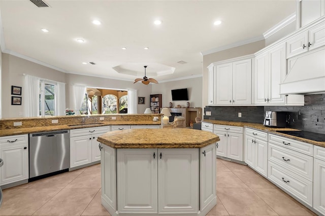
[[[251,130],[251,129],[249,129]],[[268,142],[267,140],[248,135],[246,128],[245,133],[245,162],[256,172],[268,176]],[[254,134],[263,134],[264,132],[256,131]],[[266,133],[267,134],[267,133]]]

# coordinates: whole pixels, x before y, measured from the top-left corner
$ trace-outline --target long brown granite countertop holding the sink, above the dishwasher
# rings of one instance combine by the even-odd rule
[[[101,127],[109,125],[161,125],[160,121],[109,121],[109,122],[100,122],[99,124],[87,124],[83,126],[81,124],[75,126],[68,125],[51,125],[51,126],[42,126],[42,127],[26,127],[26,128],[16,128],[16,129],[5,129],[0,131],[0,136],[11,136],[27,133],[38,133],[38,132],[49,132],[56,130],[72,130],[80,128],[89,128],[89,127]]]

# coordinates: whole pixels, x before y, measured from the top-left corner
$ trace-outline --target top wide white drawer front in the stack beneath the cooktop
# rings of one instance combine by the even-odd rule
[[[286,138],[283,136],[277,136],[269,133],[269,142],[276,145],[295,150],[297,152],[304,153],[306,155],[313,156],[313,145],[301,142],[295,139]]]

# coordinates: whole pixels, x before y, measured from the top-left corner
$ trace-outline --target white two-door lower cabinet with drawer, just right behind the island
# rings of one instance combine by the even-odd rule
[[[216,155],[243,161],[243,127],[215,124],[213,133],[220,138]]]

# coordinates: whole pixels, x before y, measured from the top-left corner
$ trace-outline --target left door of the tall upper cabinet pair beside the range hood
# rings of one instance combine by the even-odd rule
[[[255,104],[267,103],[267,83],[268,77],[268,52],[258,54],[255,57],[255,71],[254,71],[254,95]]]

